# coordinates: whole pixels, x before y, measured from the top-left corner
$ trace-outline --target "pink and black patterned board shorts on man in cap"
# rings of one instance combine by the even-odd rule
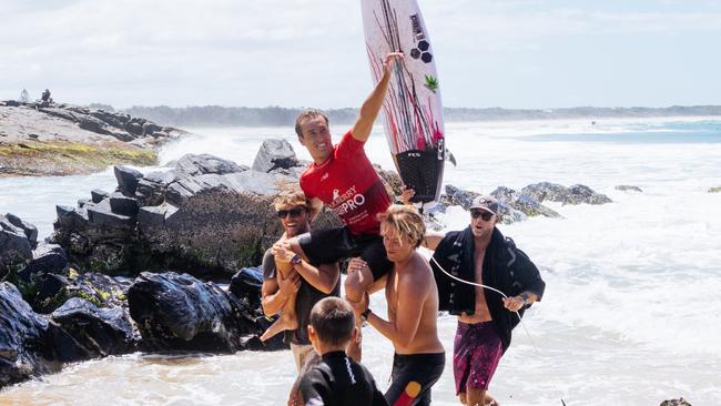
[[[456,395],[466,387],[488,390],[504,346],[494,322],[466,324],[458,322],[454,339],[454,378]]]

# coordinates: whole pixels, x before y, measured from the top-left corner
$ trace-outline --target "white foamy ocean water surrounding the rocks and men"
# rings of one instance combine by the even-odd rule
[[[339,136],[347,126],[335,125]],[[287,139],[309,159],[292,128],[191,129],[166,146],[161,166],[184,153],[251,165],[262,140]],[[514,332],[490,393],[505,405],[658,405],[683,396],[721,405],[721,120],[629,119],[451,123],[445,183],[478,192],[549,181],[586,184],[613,203],[549,204],[563,219],[501,225],[534,260],[546,295]],[[366,150],[393,168],[382,129]],[[152,169],[141,169],[149,171]],[[0,179],[0,213],[52,231],[54,204],[114,187],[112,171],[72,177]],[[616,185],[643,190],[622,192]],[[451,207],[448,230],[468,215]],[[385,307],[382,295],[374,311]],[[454,317],[439,319],[448,363],[435,405],[457,405],[450,353]],[[393,347],[364,329],[364,364],[383,388]],[[0,392],[18,405],[281,405],[294,379],[292,356],[133,354],[67,367]]]

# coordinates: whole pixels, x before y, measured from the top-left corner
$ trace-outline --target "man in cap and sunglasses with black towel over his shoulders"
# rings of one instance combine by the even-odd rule
[[[454,378],[456,395],[467,406],[496,404],[487,393],[490,378],[510,344],[511,331],[546,288],[536,265],[498,231],[498,201],[480,195],[470,205],[466,230],[427,235],[424,244],[435,251],[430,265],[439,309],[458,316]]]

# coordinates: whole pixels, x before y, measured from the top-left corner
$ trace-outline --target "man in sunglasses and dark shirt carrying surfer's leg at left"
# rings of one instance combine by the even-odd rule
[[[303,192],[285,191],[275,199],[274,206],[284,233],[263,256],[261,303],[268,316],[282,312],[282,319],[288,314],[292,317],[274,324],[274,332],[268,328],[263,338],[285,329],[285,341],[291,344],[296,369],[301,372],[313,352],[307,333],[311,309],[324,297],[338,296],[341,273],[336,263],[315,266],[283,244],[287,238],[311,231],[309,202]]]

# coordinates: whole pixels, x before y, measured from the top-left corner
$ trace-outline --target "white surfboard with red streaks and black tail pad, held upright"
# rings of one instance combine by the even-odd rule
[[[403,182],[414,201],[438,200],[445,130],[433,47],[416,0],[360,0],[374,83],[388,52],[403,52],[384,101],[384,130]]]

